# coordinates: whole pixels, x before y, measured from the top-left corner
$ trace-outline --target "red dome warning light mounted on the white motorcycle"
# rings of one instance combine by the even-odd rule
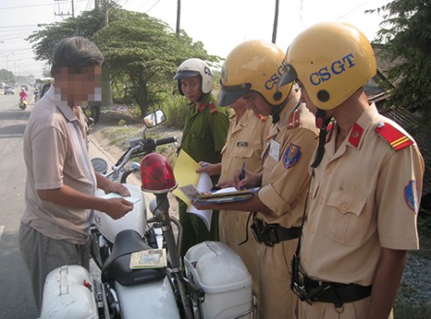
[[[169,161],[159,153],[150,153],[141,160],[141,189],[162,194],[177,188],[177,181]]]

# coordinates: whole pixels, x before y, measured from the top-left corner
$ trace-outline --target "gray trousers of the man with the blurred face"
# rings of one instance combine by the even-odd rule
[[[39,312],[42,308],[44,280],[51,270],[64,265],[90,268],[90,242],[75,245],[65,240],[45,237],[33,227],[21,223],[19,247],[30,274],[34,301]]]

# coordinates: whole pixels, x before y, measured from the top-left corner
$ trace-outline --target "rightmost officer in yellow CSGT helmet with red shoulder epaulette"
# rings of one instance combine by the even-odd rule
[[[293,263],[299,317],[390,317],[406,251],[418,249],[424,161],[407,132],[367,102],[362,86],[377,65],[357,28],[311,26],[290,44],[287,62],[280,84],[299,82],[323,137]]]

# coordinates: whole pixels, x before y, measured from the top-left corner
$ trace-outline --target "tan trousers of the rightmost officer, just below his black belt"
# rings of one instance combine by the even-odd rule
[[[336,309],[334,304],[299,301],[299,319],[363,319],[367,315],[369,297],[354,303],[343,304],[342,309]],[[394,319],[393,311],[387,319]]]

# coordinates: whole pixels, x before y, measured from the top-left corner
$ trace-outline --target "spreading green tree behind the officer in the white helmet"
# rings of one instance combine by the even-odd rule
[[[197,57],[219,62],[204,50],[203,43],[193,43],[183,31],[175,34],[147,14],[124,11],[121,19],[94,34],[93,41],[111,69],[113,86],[127,90],[142,115],[158,103],[159,92],[172,92],[172,76],[182,61]]]

